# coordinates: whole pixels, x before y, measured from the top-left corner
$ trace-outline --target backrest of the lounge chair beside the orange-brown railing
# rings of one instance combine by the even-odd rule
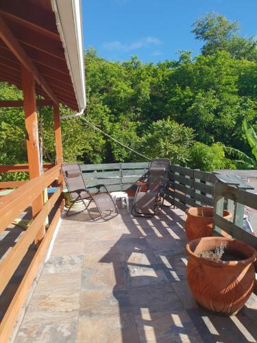
[[[75,193],[77,189],[84,189],[87,192],[82,171],[78,163],[62,163],[62,174],[72,198],[77,198],[77,193]]]

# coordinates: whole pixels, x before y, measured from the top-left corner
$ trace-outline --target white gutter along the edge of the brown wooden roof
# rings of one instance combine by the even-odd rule
[[[86,108],[81,0],[51,0],[79,110]]]

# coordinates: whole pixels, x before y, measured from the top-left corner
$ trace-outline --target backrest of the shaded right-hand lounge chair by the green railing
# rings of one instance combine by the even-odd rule
[[[149,162],[147,182],[151,191],[167,187],[170,166],[168,158],[154,158]]]

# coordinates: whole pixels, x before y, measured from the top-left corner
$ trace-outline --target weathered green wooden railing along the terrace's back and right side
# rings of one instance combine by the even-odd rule
[[[86,185],[95,186],[103,183],[109,191],[129,191],[136,188],[135,182],[145,178],[148,163],[111,163],[81,167]],[[217,184],[217,174],[171,165],[166,199],[182,211],[186,211],[191,206],[214,206],[217,211],[221,211],[221,200],[217,206],[217,197],[220,196],[217,195],[217,191],[225,187],[224,189],[230,190],[232,195],[224,196],[222,203],[232,212],[232,222],[216,216],[215,220],[221,226],[218,228],[218,225],[215,225],[217,233],[223,230],[238,239],[251,241],[252,245],[256,246],[257,237],[243,230],[243,215],[245,205],[256,208],[257,195],[245,191],[250,188],[249,185],[237,176],[222,176],[222,178],[223,182],[219,181]],[[240,230],[236,230],[237,228]]]

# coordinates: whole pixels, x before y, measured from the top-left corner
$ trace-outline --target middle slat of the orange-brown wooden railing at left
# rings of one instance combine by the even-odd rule
[[[24,235],[19,239],[18,243],[15,244],[14,248],[5,257],[3,262],[0,264],[0,293],[3,292],[5,286],[8,284],[15,270],[18,268],[23,257],[25,256],[29,246],[34,241],[38,230],[40,230],[42,224],[45,222],[47,215],[49,215],[53,205],[56,203],[60,194],[61,188],[58,188],[51,198],[46,202],[40,213],[33,220],[32,224],[29,225]]]

